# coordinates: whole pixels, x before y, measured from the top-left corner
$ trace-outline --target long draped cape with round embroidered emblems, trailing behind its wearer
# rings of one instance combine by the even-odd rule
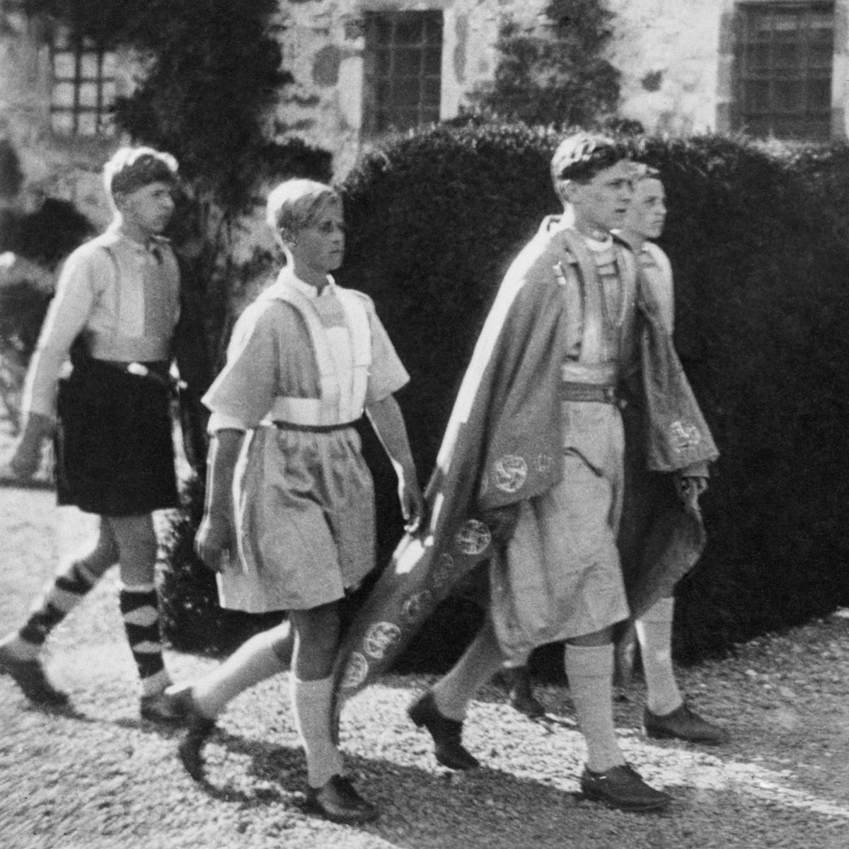
[[[425,492],[426,525],[402,538],[342,640],[334,669],[337,717],[344,700],[391,667],[460,578],[492,557],[498,543],[486,524],[487,511],[533,498],[562,475],[560,385],[566,322],[558,277],[564,261],[580,270],[582,257],[567,247],[572,240],[566,231],[541,228],[503,279]],[[650,301],[641,301],[641,311],[650,316]],[[646,379],[647,391],[672,391],[684,401],[691,399],[661,324],[649,318],[643,326],[643,335],[660,332],[667,341],[643,346],[649,355],[644,370],[654,368],[655,361],[661,368],[657,378]],[[663,387],[661,380],[674,385]],[[666,444],[678,433],[670,422],[693,419],[688,405],[686,411],[658,402],[647,406],[665,416],[648,431],[649,462],[666,467],[680,456],[677,468],[683,468],[716,456],[700,419],[704,432],[688,431],[689,440]],[[686,450],[679,450],[682,447]]]

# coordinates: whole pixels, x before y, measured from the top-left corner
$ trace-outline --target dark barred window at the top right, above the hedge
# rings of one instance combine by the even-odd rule
[[[735,29],[732,127],[827,140],[834,3],[742,3]]]

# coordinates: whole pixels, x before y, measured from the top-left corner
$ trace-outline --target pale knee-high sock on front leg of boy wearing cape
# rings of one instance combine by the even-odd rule
[[[594,773],[624,763],[613,725],[613,645],[566,644],[566,675]]]

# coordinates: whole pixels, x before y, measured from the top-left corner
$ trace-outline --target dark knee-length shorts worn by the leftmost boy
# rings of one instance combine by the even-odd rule
[[[161,363],[147,363],[166,376]],[[163,383],[86,360],[59,382],[60,504],[127,516],[177,504],[170,392]]]

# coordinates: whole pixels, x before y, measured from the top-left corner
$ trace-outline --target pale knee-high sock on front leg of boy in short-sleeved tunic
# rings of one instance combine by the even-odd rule
[[[334,775],[345,773],[345,762],[333,742],[330,722],[333,678],[301,681],[293,672],[289,685],[295,728],[306,754],[306,779],[311,787],[322,787]]]

